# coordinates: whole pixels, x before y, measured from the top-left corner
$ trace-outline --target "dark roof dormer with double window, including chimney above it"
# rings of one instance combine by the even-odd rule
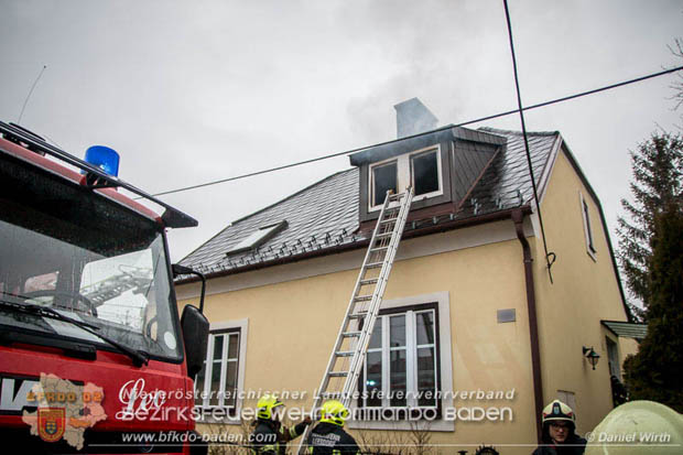
[[[460,127],[434,132],[437,119],[416,98],[394,106],[399,141],[350,155],[360,169],[359,220],[377,219],[388,189],[414,188],[409,219],[456,214],[506,138]],[[403,138],[403,139],[401,139]]]

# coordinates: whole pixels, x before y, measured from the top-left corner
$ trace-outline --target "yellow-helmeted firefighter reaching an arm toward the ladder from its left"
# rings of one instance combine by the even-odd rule
[[[265,394],[257,403],[257,420],[254,429],[249,436],[251,452],[256,455],[284,455],[286,443],[300,436],[306,425],[311,424],[311,418],[295,426],[288,427],[280,422],[284,411],[284,403],[275,396]]]

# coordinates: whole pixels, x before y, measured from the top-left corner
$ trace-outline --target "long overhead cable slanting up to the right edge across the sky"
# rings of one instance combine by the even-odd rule
[[[620,82],[620,83],[616,83],[616,84],[607,85],[607,86],[604,86],[604,87],[595,88],[593,90],[582,91],[582,93],[578,93],[578,94],[574,94],[574,95],[568,95],[568,96],[562,97],[562,98],[555,98],[555,99],[551,99],[549,101],[539,102],[538,105],[527,106],[527,107],[522,108],[522,111],[532,110],[532,109],[539,109],[539,108],[542,108],[542,107],[545,107],[545,106],[555,105],[557,102],[564,102],[564,101],[568,101],[571,99],[576,99],[576,98],[581,98],[581,97],[584,97],[584,96],[598,94],[600,91],[611,90],[612,88],[618,88],[618,87],[624,87],[626,85],[640,83],[642,80],[647,80],[647,79],[652,79],[654,77],[664,76],[664,75],[668,75],[668,74],[671,74],[671,73],[675,73],[675,72],[679,72],[679,71],[682,71],[682,69],[683,69],[683,66],[677,66],[675,68],[664,69],[664,71],[661,71],[661,72],[658,72],[658,73],[652,73],[652,74],[648,74],[646,76],[637,77],[635,79],[624,80],[624,82]],[[282,170],[285,170],[285,169],[289,169],[289,167],[295,167],[295,166],[301,166],[303,164],[315,163],[316,161],[323,161],[323,160],[328,160],[330,158],[348,155],[348,154],[351,154],[351,153],[356,153],[356,152],[360,152],[360,151],[364,151],[364,150],[372,149],[375,147],[381,147],[381,145],[387,145],[387,144],[391,144],[391,143],[399,142],[399,141],[404,141],[406,139],[419,138],[419,137],[422,137],[422,136],[432,134],[434,132],[445,131],[445,130],[448,130],[451,128],[465,127],[465,126],[471,124],[471,123],[479,123],[481,121],[492,120],[492,119],[510,116],[510,115],[518,113],[518,112],[520,112],[520,109],[507,110],[505,112],[499,112],[499,113],[494,113],[491,116],[480,117],[478,119],[464,121],[464,122],[457,123],[457,124],[447,124],[445,127],[441,127],[441,128],[437,128],[435,130],[431,130],[431,131],[426,131],[426,132],[409,136],[409,137],[401,138],[401,139],[392,139],[390,141],[378,142],[378,143],[372,144],[372,145],[359,147],[357,149],[346,150],[344,152],[330,153],[330,154],[323,155],[323,156],[312,158],[310,160],[297,161],[295,163],[290,163],[290,164],[283,164],[281,166],[277,166],[277,167],[269,167],[269,169],[264,169],[264,170],[261,170],[261,171],[250,172],[248,174],[236,175],[234,177],[227,177],[227,178],[221,178],[221,180],[217,180],[217,181],[213,181],[213,182],[200,183],[200,184],[197,184],[197,185],[184,186],[182,188],[176,188],[176,189],[169,189],[169,191],[165,191],[165,192],[155,193],[152,196],[165,196],[167,194],[174,194],[174,193],[181,193],[181,192],[185,192],[185,191],[189,191],[189,189],[202,188],[202,187],[205,187],[205,186],[217,185],[219,183],[234,182],[236,180],[253,177],[253,176],[261,175],[261,174],[268,174],[269,172],[282,171]]]

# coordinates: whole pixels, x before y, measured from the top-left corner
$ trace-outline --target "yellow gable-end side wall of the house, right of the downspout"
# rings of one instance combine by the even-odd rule
[[[586,250],[579,192],[588,204],[595,260]],[[627,316],[597,204],[564,150],[557,155],[541,209],[549,251],[557,257],[551,284],[543,243],[532,239],[544,402],[557,398],[557,390],[574,392],[577,429],[584,433],[612,409],[606,328],[600,319],[626,321]],[[595,371],[582,356],[583,346],[600,355]],[[632,340],[619,343],[621,358],[636,348]]]

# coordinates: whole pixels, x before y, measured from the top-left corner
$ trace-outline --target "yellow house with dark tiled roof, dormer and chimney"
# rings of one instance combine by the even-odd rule
[[[620,377],[642,331],[630,324],[600,203],[568,145],[557,131],[528,133],[546,260],[520,132],[434,130],[418,100],[397,111],[399,140],[350,155],[353,169],[236,220],[182,261],[208,282],[197,405],[227,410],[229,423],[265,391],[311,407],[383,195],[412,185],[353,403],[362,412],[348,427],[403,442],[419,429],[433,452],[485,443],[528,454],[541,409],[559,398],[578,432],[592,430],[612,409],[610,376]],[[196,302],[199,285],[183,277],[176,292],[181,305]]]

